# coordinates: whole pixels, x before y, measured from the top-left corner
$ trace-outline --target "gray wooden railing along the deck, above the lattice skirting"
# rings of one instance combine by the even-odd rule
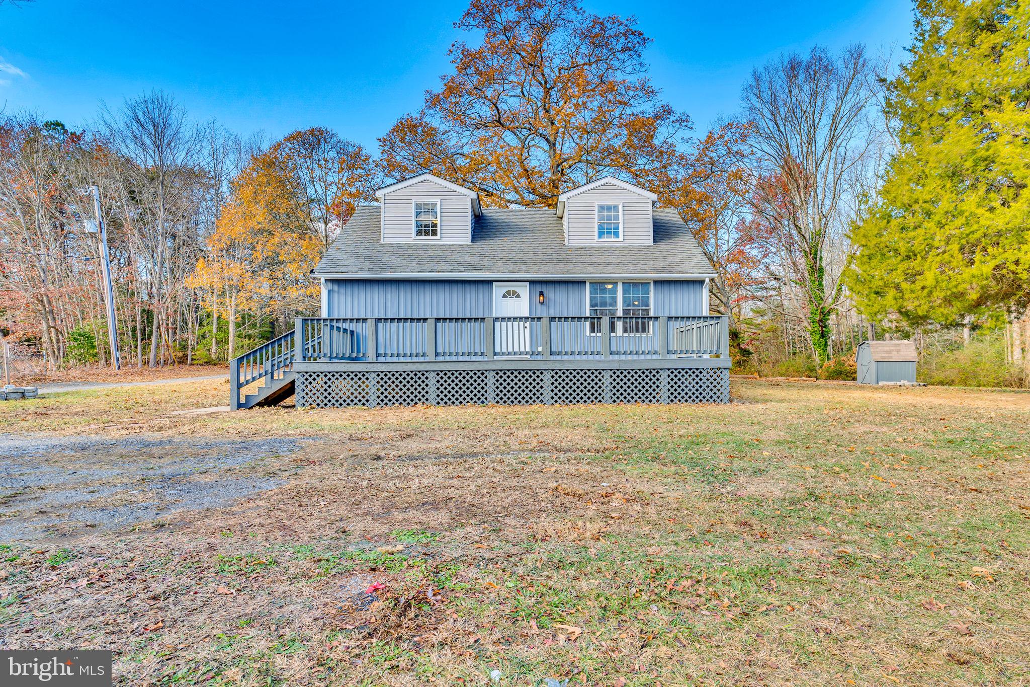
[[[290,348],[301,362],[727,357],[728,334],[721,315],[299,317]]]

